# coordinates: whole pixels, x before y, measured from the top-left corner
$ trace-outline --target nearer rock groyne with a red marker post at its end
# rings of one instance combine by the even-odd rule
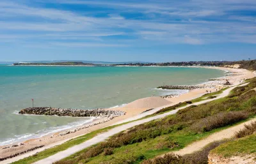
[[[118,117],[125,115],[120,110],[99,109],[71,109],[71,108],[51,108],[51,107],[30,107],[20,110],[19,114],[35,114],[45,116],[70,116],[70,117]]]

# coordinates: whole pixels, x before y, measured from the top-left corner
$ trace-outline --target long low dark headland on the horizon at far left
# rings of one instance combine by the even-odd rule
[[[93,66],[92,63],[83,62],[56,62],[56,63],[13,63],[14,66]]]

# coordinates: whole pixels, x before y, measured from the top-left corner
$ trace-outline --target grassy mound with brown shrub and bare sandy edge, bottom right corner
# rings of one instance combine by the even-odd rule
[[[244,124],[244,129],[235,134],[210,151],[210,163],[256,163],[256,122]]]

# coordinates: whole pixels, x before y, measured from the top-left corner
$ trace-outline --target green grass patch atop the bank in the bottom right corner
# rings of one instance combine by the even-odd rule
[[[256,135],[250,135],[227,142],[212,150],[211,153],[220,154],[225,158],[249,154],[253,154],[256,157]]]

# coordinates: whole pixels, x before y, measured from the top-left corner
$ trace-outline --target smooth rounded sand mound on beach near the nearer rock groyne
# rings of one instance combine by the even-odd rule
[[[141,98],[124,106],[124,108],[157,108],[172,102],[160,97]]]

